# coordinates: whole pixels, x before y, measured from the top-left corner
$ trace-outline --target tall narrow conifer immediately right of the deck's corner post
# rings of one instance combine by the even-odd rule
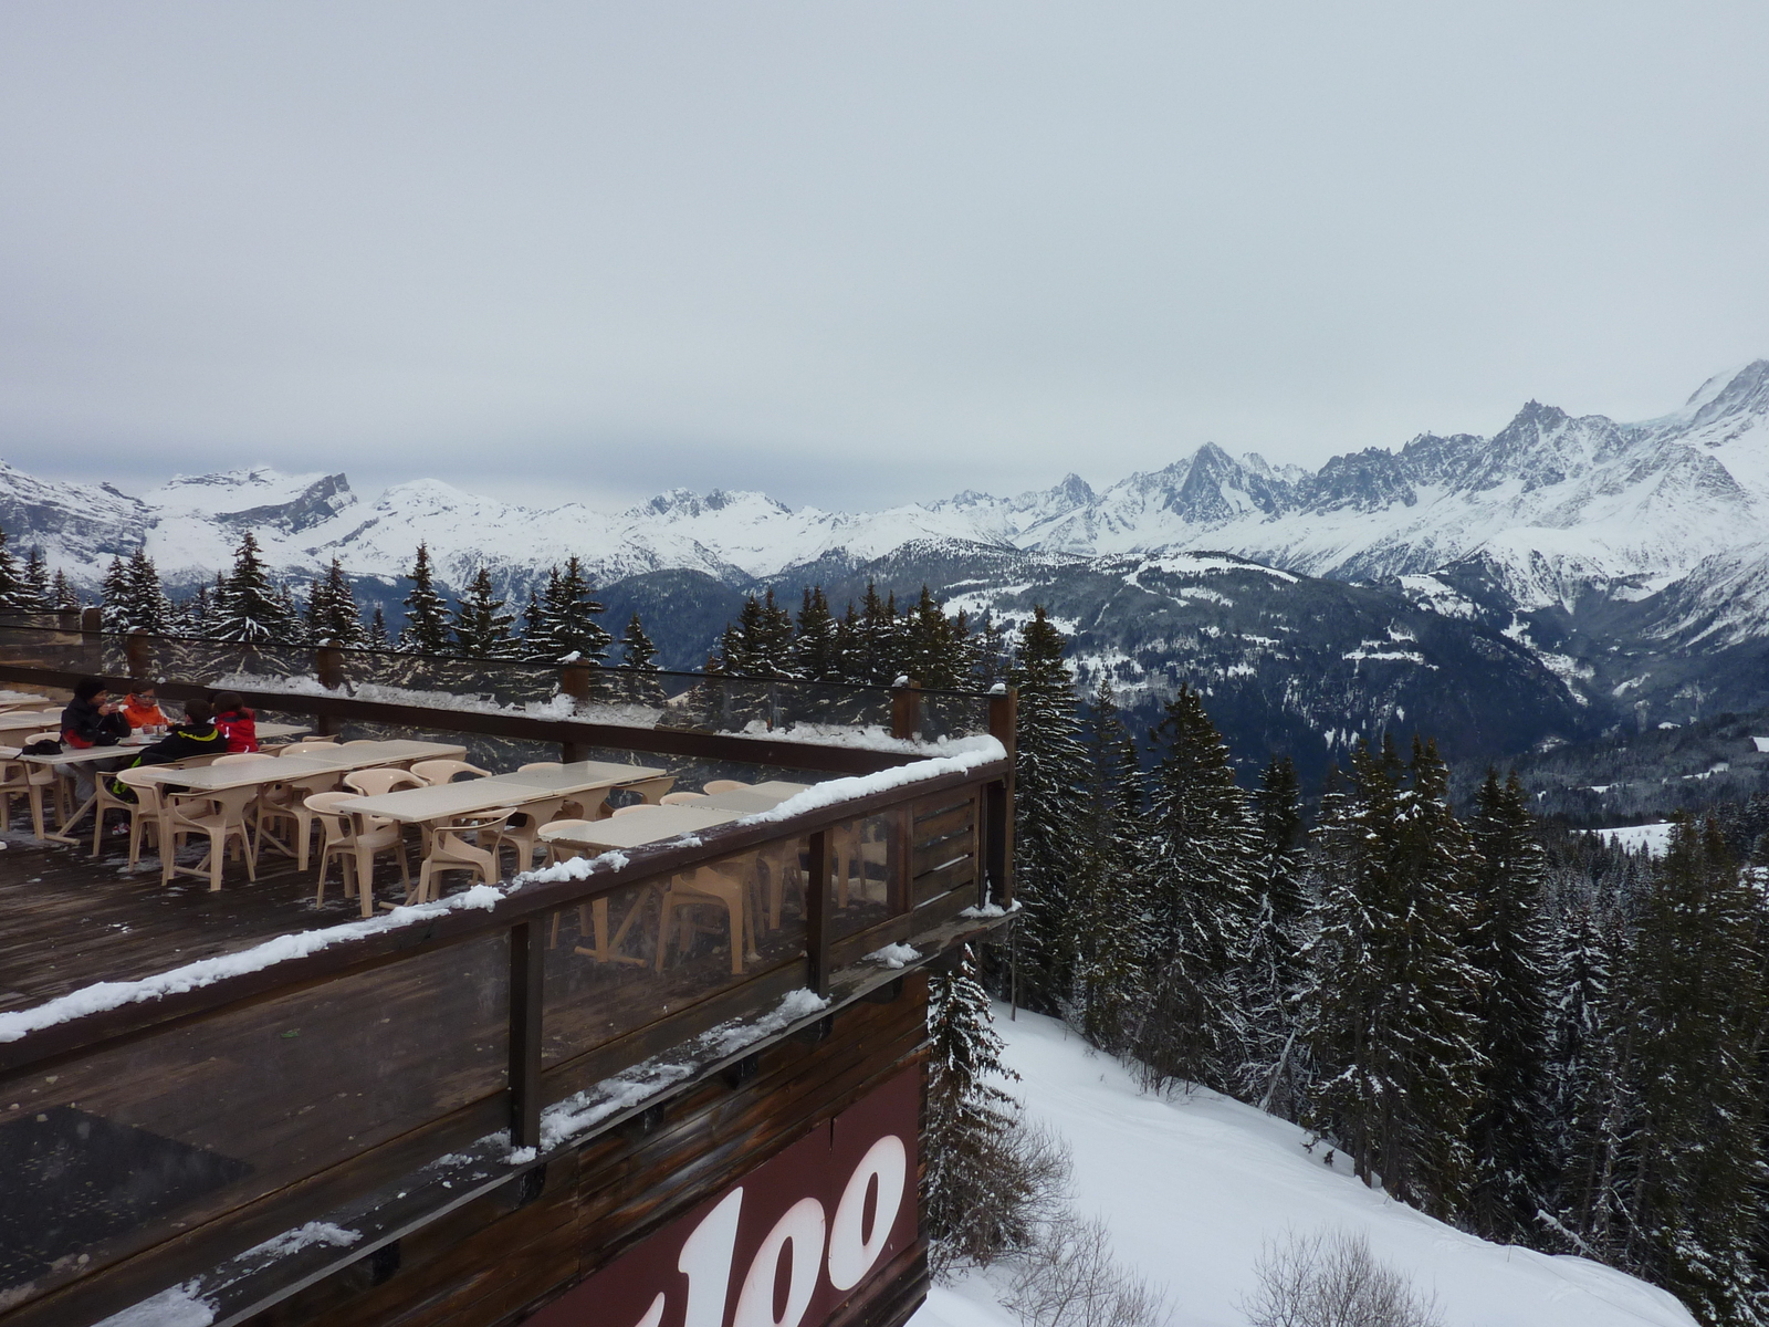
[[[876,598],[876,596],[874,596]],[[1014,784],[1014,878],[1028,1003],[1056,1012],[1074,994],[1076,848],[1086,782],[1068,642],[1033,609],[1014,662],[1019,688]]]

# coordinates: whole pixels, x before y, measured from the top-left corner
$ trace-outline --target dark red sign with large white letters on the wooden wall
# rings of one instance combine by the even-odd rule
[[[672,1221],[534,1327],[817,1327],[915,1242],[920,1070]]]

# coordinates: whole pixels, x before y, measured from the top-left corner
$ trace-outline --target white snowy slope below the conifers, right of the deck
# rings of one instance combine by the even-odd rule
[[[1245,1327],[1237,1304],[1261,1240],[1286,1230],[1364,1231],[1376,1256],[1435,1290],[1449,1327],[1693,1327],[1670,1295],[1583,1258],[1463,1235],[1359,1184],[1302,1131],[1196,1093],[1143,1095],[1060,1023],[998,1009],[1030,1113],[1074,1150],[1077,1207],[1111,1226],[1118,1256],[1168,1288],[1171,1327]],[[982,1276],[936,1286],[911,1327],[1019,1327]]]

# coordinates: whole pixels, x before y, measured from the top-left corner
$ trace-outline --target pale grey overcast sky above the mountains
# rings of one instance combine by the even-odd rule
[[[1769,5],[0,9],[0,456],[870,508],[1769,356]]]

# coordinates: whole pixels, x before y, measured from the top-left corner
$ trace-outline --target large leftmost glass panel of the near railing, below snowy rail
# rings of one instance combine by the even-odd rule
[[[501,1093],[499,932],[0,1083],[0,1302]]]

